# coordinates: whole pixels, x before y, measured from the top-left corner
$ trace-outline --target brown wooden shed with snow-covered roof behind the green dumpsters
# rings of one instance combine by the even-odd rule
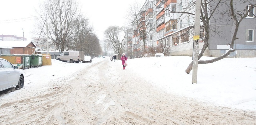
[[[11,54],[35,54],[35,44],[29,41],[0,41],[0,46],[13,47]]]

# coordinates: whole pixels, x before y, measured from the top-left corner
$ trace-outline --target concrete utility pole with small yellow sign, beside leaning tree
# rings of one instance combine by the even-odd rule
[[[196,0],[196,12],[195,12],[195,34],[194,34],[194,52],[193,52],[193,74],[192,74],[192,84],[197,82],[197,66],[198,66],[198,53],[199,53],[199,43],[200,39],[200,9],[201,0]]]

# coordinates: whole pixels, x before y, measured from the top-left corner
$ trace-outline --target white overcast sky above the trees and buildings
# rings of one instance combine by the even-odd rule
[[[44,0],[2,0],[0,17],[0,34],[23,36],[27,40],[34,37],[32,34],[34,20],[38,16],[36,9],[39,1]],[[136,0],[79,0],[81,11],[89,19],[100,40],[103,39],[103,32],[109,26],[125,25],[125,16],[130,5]],[[137,0],[144,4],[146,0]],[[22,30],[23,28],[23,30]]]

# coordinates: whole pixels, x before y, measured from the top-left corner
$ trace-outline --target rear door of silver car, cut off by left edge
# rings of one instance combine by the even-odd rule
[[[0,90],[8,87],[8,73],[0,60]]]

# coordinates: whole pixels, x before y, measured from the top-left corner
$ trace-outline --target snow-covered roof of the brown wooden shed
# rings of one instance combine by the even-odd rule
[[[30,41],[0,41],[0,46],[5,47],[27,47],[31,43]],[[35,46],[35,44],[32,42]],[[33,46],[32,46],[33,47]]]

